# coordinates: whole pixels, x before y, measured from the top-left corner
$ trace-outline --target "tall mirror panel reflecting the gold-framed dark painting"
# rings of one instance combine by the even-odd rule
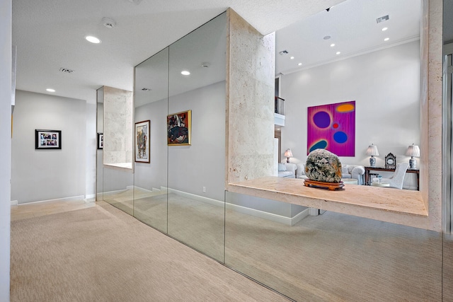
[[[226,13],[169,47],[168,235],[223,261]]]

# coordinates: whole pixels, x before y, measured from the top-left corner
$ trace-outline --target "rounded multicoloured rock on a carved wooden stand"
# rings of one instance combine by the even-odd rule
[[[304,180],[306,187],[319,187],[328,190],[343,189],[341,163],[338,156],[325,149],[316,149],[306,158]]]

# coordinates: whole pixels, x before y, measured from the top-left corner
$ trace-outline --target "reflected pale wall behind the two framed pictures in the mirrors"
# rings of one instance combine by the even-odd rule
[[[168,146],[166,116],[192,110],[190,146]],[[150,162],[135,163],[134,185],[151,190],[168,187],[224,200],[225,82],[195,89],[135,110],[135,122],[151,121]],[[202,192],[206,187],[206,192]]]

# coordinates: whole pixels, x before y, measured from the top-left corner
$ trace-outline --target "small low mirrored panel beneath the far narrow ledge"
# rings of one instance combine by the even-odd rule
[[[114,207],[134,214],[134,173],[131,169],[104,165],[103,200]]]

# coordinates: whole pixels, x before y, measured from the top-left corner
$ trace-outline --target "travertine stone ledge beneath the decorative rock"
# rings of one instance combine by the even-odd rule
[[[344,188],[330,191],[305,187],[302,179],[274,176],[228,186],[229,192],[430,229],[428,210],[418,191],[348,184]]]

